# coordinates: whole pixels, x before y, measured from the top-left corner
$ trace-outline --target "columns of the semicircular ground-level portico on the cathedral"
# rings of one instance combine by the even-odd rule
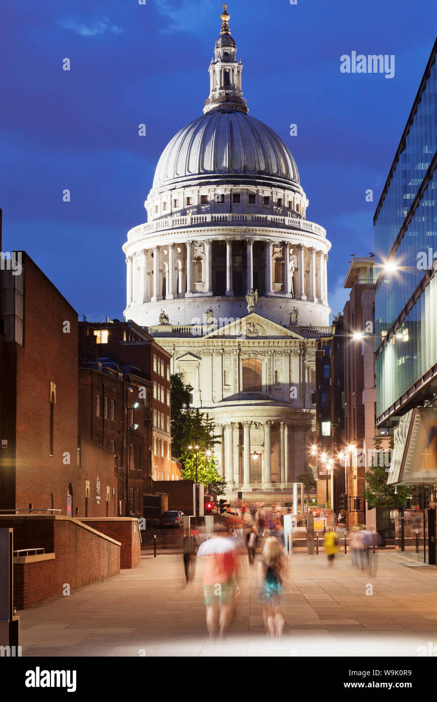
[[[241,430],[240,425],[243,428],[243,444],[241,446]],[[216,427],[219,428],[220,425]],[[229,486],[240,486],[240,489],[250,489],[252,487],[262,487],[262,489],[271,489],[273,484],[271,482],[271,432],[272,428],[277,430],[279,446],[278,446],[278,463],[279,471],[275,480],[275,485],[280,486],[281,484],[287,484],[288,482],[293,482],[293,475],[291,475],[291,465],[289,461],[290,456],[290,429],[288,424],[285,422],[274,423],[271,420],[264,422],[253,422],[253,421],[243,421],[229,422],[222,425],[224,430],[224,446],[218,445],[215,449],[215,453],[220,455],[219,458],[219,470],[222,476],[229,484]],[[251,437],[251,430],[260,430],[264,432],[263,442],[253,441],[253,434]],[[259,435],[258,435],[259,436]],[[260,461],[261,465],[261,485],[260,482],[252,482],[250,478],[250,458],[253,456],[255,451],[252,445],[257,449],[259,446],[264,446],[264,450],[257,450],[258,454],[257,461]],[[240,475],[240,449],[243,448],[243,474]],[[224,451],[222,450],[224,449]],[[222,458],[224,458],[224,463],[222,463]],[[242,477],[242,480],[241,480]]]

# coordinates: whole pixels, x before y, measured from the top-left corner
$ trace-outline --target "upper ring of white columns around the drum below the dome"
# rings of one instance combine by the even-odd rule
[[[226,296],[234,296],[233,290],[233,251],[232,239],[224,239],[226,244]],[[246,239],[246,287],[253,289],[253,243],[254,238]],[[266,265],[265,265],[265,281],[264,294],[274,296],[282,294],[292,296],[300,300],[311,300],[314,302],[328,302],[328,283],[326,274],[327,254],[324,251],[316,250],[314,247],[305,247],[304,244],[293,244],[288,241],[278,242],[272,239],[260,239],[266,244]],[[201,241],[203,245],[203,253],[196,253],[201,256],[203,265],[203,290],[195,289],[196,281],[194,281],[194,241],[184,241],[178,244],[165,244],[153,247],[153,287],[151,295],[147,296],[146,276],[147,271],[147,249],[143,249],[140,256],[128,256],[126,258],[127,277],[126,277],[126,298],[127,304],[131,305],[138,301],[156,302],[163,299],[163,291],[160,289],[160,273],[163,272],[163,266],[166,266],[166,300],[173,300],[178,296],[178,293],[186,297],[194,294],[203,296],[213,295],[213,239],[204,239]],[[177,290],[176,275],[181,273],[176,270],[175,266],[175,246],[184,247],[184,288],[185,291]],[[281,280],[281,290],[275,289],[274,278],[274,247],[281,247],[281,253],[276,251],[275,257],[280,260],[283,265],[283,276]],[[308,254],[305,256],[305,249]],[[165,250],[166,256],[161,255],[161,250]],[[305,270],[306,259],[308,270]],[[137,270],[138,260],[140,262],[140,270]],[[138,291],[136,276],[140,273],[140,290]],[[276,282],[277,284],[277,282]],[[182,287],[182,286],[181,286]],[[140,300],[137,299],[138,294]]]

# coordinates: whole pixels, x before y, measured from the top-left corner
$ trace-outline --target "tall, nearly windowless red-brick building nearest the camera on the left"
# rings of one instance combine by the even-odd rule
[[[112,452],[78,451],[77,314],[32,258],[13,256],[20,267],[1,270],[0,509],[76,516],[88,500],[90,516],[112,515]]]

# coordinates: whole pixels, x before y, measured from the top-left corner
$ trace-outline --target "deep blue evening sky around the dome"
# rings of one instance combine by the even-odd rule
[[[372,216],[433,46],[436,3],[231,0],[228,11],[250,114],[290,147],[307,217],[332,242],[336,313],[351,253],[373,249]],[[27,251],[79,314],[121,317],[121,246],[146,220],[163,148],[201,114],[221,12],[212,0],[2,0],[2,249]],[[352,51],[394,54],[394,78],[342,74]]]

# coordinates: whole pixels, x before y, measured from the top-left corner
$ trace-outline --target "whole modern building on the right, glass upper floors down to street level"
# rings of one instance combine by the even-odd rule
[[[436,51],[437,41],[374,217],[382,265],[376,421],[395,431],[388,482],[412,490],[408,510],[398,514],[398,544],[430,564],[436,563],[437,486]]]

